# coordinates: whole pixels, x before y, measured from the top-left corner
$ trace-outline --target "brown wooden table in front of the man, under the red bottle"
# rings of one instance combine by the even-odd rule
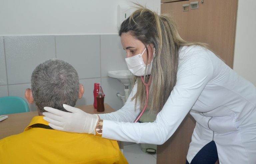
[[[97,112],[93,105],[79,106],[77,108],[90,114],[115,112],[115,110],[108,104],[105,103],[104,106],[104,112]],[[8,114],[8,118],[0,122],[0,139],[23,132],[34,116],[38,116],[37,111]]]

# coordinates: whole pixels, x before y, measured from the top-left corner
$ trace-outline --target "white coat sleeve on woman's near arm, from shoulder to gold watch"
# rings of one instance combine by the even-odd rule
[[[207,51],[180,60],[177,82],[156,120],[150,123],[103,121],[102,137],[136,143],[163,144],[176,131],[213,74]]]

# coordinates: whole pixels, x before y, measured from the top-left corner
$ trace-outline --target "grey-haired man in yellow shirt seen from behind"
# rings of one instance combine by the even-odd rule
[[[0,140],[0,163],[128,163],[117,141],[54,130],[43,119],[43,107],[66,111],[63,104],[75,106],[83,95],[83,85],[70,64],[58,59],[39,64],[31,88],[25,96],[35,103],[39,116],[24,132]]]

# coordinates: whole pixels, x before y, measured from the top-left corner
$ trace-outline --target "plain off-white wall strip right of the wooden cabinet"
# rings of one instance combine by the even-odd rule
[[[256,1],[239,0],[233,69],[256,86]]]

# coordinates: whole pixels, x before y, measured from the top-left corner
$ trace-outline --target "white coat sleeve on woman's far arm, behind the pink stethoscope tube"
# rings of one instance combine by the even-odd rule
[[[131,94],[129,95],[125,105],[116,112],[98,114],[103,120],[112,120],[118,122],[133,122],[140,113],[139,104],[136,105],[135,100],[131,101],[133,95],[137,92],[137,84],[134,85]]]

